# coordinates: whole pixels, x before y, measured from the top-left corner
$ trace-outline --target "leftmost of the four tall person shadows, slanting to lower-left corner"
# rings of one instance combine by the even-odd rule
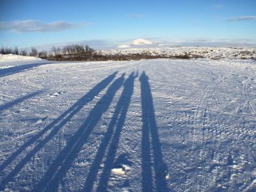
[[[41,140],[38,142],[38,144],[31,150],[21,161],[15,166],[15,168],[12,170],[12,172],[9,173],[9,175],[1,181],[0,189],[4,189],[4,186],[13,179],[13,177],[20,172],[20,170],[24,167],[28,161],[31,160],[31,157],[33,157],[36,152],[38,152],[44,145],[50,141],[55,134],[60,131],[61,127],[63,125],[67,124],[67,122],[72,118],[72,116],[76,115],[76,113],[83,108],[84,105],[86,105],[88,102],[91,102],[96,95],[98,95],[104,88],[108,86],[111,81],[115,78],[117,72],[114,72],[110,76],[103,79],[99,84],[94,86],[90,92],[86,93],[81,99],[79,99],[73,106],[67,109],[63,114],[61,114],[56,120],[54,120],[51,124],[47,125],[42,131],[38,132],[35,136],[32,136],[26,143],[24,143],[22,146],[18,148],[6,161],[4,161],[3,164],[0,166],[0,173],[3,172],[4,168],[12,163],[12,161],[15,160],[19,154],[21,154],[26,148],[31,146],[33,143],[35,143],[41,136],[45,134],[45,132],[51,130],[51,132],[44,138],[44,140]],[[58,124],[59,123],[59,124]]]

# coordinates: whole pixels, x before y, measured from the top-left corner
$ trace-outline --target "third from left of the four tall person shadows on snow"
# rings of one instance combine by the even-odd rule
[[[109,123],[108,130],[104,134],[104,138],[100,143],[100,147],[97,150],[95,159],[92,163],[92,166],[90,167],[86,183],[84,184],[83,191],[92,191],[93,182],[95,182],[95,178],[97,177],[97,173],[99,172],[99,167],[100,167],[100,164],[102,163],[102,159],[104,157],[106,148],[108,147],[109,142],[111,140],[111,136],[113,135],[113,132],[115,130],[115,134],[113,136],[111,145],[109,147],[108,157],[104,166],[105,169],[104,169],[104,172],[102,173],[101,186],[99,186],[100,191],[106,191],[105,184],[108,183],[108,180],[109,180],[109,173],[113,166],[113,160],[115,158],[116,146],[118,144],[118,141],[120,138],[120,132],[122,131],[122,127],[125,122],[125,117],[127,114],[127,110],[129,108],[129,104],[131,102],[131,96],[132,96],[133,87],[134,87],[134,79],[137,76],[138,75],[134,76],[134,72],[132,72],[124,83],[124,90],[120,96],[120,99],[116,104],[116,108],[111,118],[111,121]]]

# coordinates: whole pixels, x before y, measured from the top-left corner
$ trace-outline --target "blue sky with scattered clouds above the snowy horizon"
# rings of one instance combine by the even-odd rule
[[[256,40],[255,0],[0,2],[0,45]],[[118,44],[118,43],[116,43]]]

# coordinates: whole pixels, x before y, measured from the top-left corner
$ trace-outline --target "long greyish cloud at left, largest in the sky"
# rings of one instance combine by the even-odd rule
[[[55,22],[42,22],[40,20],[13,20],[7,22],[0,22],[0,30],[8,30],[14,33],[27,32],[55,32],[67,29],[76,29],[81,26],[88,26],[88,22],[67,22],[58,20]]]

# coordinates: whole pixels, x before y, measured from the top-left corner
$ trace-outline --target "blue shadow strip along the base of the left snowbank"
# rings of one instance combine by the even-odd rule
[[[15,66],[15,67],[1,68],[0,69],[0,77],[10,76],[12,74],[17,74],[19,72],[24,72],[24,71],[27,71],[27,70],[31,70],[31,68],[38,67],[40,65],[50,64],[50,63],[52,63],[52,62],[31,63],[31,64],[26,64],[26,65],[18,65],[18,66]]]

